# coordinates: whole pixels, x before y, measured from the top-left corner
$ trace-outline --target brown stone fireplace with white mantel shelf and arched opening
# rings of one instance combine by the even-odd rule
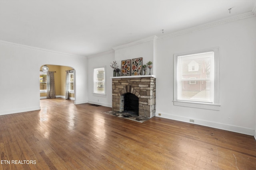
[[[156,78],[154,75],[112,78],[112,110],[137,111],[151,118],[156,114]]]

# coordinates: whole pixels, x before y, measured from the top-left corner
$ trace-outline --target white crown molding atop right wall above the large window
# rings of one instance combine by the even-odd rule
[[[254,11],[255,11],[255,9],[254,9]],[[166,38],[176,37],[176,36],[179,36],[179,35],[184,35],[184,34],[187,34],[187,33],[194,32],[194,31],[199,31],[199,30],[202,30],[202,29],[216,27],[216,26],[222,25],[224,23],[229,23],[229,22],[233,22],[233,21],[237,21],[237,20],[243,20],[243,19],[246,19],[246,18],[254,17],[254,16],[256,16],[255,12],[248,12],[248,13],[245,13],[245,14],[233,16],[233,17],[226,18],[226,19],[223,19],[223,20],[214,21],[214,22],[207,23],[207,24],[204,24],[204,25],[199,25],[199,26],[196,26],[196,27],[192,27],[192,28],[189,28],[189,29],[184,29],[182,31],[178,31],[178,32],[175,32],[175,33],[164,35],[162,37],[158,37],[157,40],[159,41],[159,40],[166,39]]]

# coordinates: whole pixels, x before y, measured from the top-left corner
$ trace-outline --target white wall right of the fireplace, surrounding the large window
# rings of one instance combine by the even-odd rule
[[[220,54],[220,111],[174,106],[174,54],[211,47]],[[255,58],[256,17],[158,41],[156,116],[254,135]]]

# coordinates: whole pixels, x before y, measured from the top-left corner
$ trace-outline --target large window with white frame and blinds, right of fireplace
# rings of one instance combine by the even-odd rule
[[[174,105],[218,110],[218,48],[174,55],[174,60]]]

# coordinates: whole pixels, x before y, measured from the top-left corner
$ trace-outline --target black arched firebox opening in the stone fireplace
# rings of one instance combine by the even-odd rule
[[[124,94],[124,110],[139,113],[139,98],[132,93]]]

